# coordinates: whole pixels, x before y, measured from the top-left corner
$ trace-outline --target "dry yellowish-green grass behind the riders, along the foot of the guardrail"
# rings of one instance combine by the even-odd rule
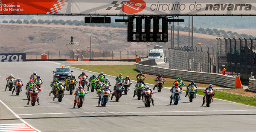
[[[112,75],[112,76],[118,76],[120,73],[122,73],[124,77],[130,76],[130,79],[132,80],[136,80],[136,76],[139,73],[136,70],[135,65],[70,65],[70,66],[84,69],[84,70],[90,70],[97,73],[100,73],[101,71],[103,71],[105,74]],[[145,74],[145,76],[146,76],[146,79],[145,79],[146,83],[155,84],[154,79],[156,78],[156,76],[149,75],[149,74]],[[166,79],[164,83],[165,87],[172,87],[173,86],[172,83],[176,80],[176,79],[170,79],[170,78],[165,78],[165,79]],[[186,85],[190,83],[190,81],[184,81],[184,80],[183,82]],[[201,84],[201,83],[196,83],[196,84],[198,85],[198,87],[208,86],[208,84]],[[218,87],[218,86],[213,85],[213,87]]]

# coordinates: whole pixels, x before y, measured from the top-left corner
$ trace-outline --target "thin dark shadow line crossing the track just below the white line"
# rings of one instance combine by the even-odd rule
[[[100,106],[98,106],[100,107]],[[55,118],[97,118],[97,117],[164,117],[164,116],[236,116],[236,115],[256,115],[255,114],[202,114],[202,115],[90,115],[90,116],[55,116],[55,117],[34,117],[34,118],[22,118],[23,120],[33,120],[33,119],[55,119]],[[12,121],[20,120],[19,118],[1,119],[1,121]]]

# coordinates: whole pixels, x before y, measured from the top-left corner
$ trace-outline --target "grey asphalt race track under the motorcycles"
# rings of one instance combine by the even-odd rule
[[[153,95],[154,106],[145,107],[141,100],[133,98],[135,81],[127,95],[122,95],[119,102],[110,101],[106,107],[98,107],[96,92],[85,96],[82,108],[73,109],[75,95],[66,92],[62,102],[52,101],[49,97],[52,71],[61,67],[52,62],[1,62],[0,63],[0,124],[1,132],[9,125],[16,125],[17,130],[35,130],[41,132],[255,132],[256,107],[214,99],[210,107],[202,104],[202,96],[197,95],[192,103],[181,95],[178,105],[169,105],[170,91],[164,88]],[[70,68],[77,77],[83,70]],[[20,95],[4,91],[6,77],[13,74],[24,85],[29,76],[36,71],[41,79],[42,91],[40,104],[26,105],[25,87]],[[98,73],[85,71],[88,76]],[[118,76],[118,75],[116,75]],[[112,86],[115,77],[106,76]],[[153,88],[153,85],[149,85]],[[111,87],[113,89],[113,87]],[[155,90],[156,91],[156,90]],[[4,104],[6,104],[6,107]],[[11,112],[13,111],[13,112]],[[22,125],[26,125],[22,126]],[[21,126],[20,126],[21,125]],[[10,126],[13,127],[13,126]],[[21,128],[23,127],[23,129]],[[6,129],[4,129],[6,128]],[[25,129],[26,128],[26,129]],[[29,132],[32,132],[29,131]]]

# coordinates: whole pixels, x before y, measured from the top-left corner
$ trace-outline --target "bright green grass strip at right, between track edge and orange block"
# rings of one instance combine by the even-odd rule
[[[197,94],[204,95],[203,91],[204,90],[198,90]],[[247,104],[247,105],[256,107],[256,97],[237,95],[237,94],[222,92],[218,90],[214,90],[214,92],[215,92],[214,98],[219,98],[227,101],[233,101],[236,103]]]

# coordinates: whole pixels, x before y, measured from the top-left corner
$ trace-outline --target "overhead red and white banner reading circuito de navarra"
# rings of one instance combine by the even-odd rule
[[[0,14],[256,15],[256,0],[0,0]]]

